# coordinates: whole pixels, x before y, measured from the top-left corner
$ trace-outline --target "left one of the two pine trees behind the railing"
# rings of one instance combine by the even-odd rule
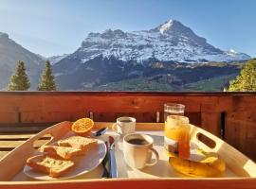
[[[15,73],[9,80],[9,91],[27,91],[30,87],[29,79],[26,74],[24,62],[19,60]]]

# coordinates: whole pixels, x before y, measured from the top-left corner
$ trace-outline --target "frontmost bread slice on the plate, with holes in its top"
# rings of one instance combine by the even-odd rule
[[[53,178],[58,178],[75,166],[75,163],[46,155],[37,155],[28,158],[27,165],[35,171],[46,173]]]

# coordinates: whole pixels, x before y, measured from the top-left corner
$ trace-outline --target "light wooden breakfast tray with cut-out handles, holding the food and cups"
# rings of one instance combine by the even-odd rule
[[[62,122],[47,128],[23,145],[16,147],[0,161],[0,188],[141,188],[141,187],[168,187],[168,188],[216,188],[220,185],[225,188],[255,188],[256,164],[244,154],[229,146],[218,137],[204,129],[192,126],[192,141],[208,151],[218,153],[219,157],[227,164],[226,172],[220,178],[188,178],[183,176],[169,165],[168,157],[163,150],[163,124],[137,123],[137,132],[146,133],[154,138],[154,147],[158,151],[160,160],[155,166],[142,170],[132,169],[124,163],[122,155],[122,138],[111,131],[113,123],[96,123],[95,129],[108,127],[109,131],[100,137],[106,141],[109,135],[114,136],[116,143],[116,160],[118,178],[101,179],[102,165],[82,176],[71,180],[33,180],[23,173],[27,158],[33,155],[37,149],[34,143],[43,136],[51,135],[49,144],[62,139],[70,132],[71,122]],[[198,138],[204,135],[215,143],[215,146],[205,145]]]

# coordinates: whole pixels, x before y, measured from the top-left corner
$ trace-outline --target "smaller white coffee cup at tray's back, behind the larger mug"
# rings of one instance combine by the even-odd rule
[[[134,133],[136,130],[136,118],[134,117],[119,117],[117,123],[112,126],[112,129],[120,135]]]

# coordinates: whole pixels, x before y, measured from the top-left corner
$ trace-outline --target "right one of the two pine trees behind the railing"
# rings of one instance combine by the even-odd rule
[[[45,69],[41,76],[40,83],[38,85],[38,91],[56,91],[57,86],[55,84],[55,78],[52,75],[51,65],[49,60],[46,60]]]

